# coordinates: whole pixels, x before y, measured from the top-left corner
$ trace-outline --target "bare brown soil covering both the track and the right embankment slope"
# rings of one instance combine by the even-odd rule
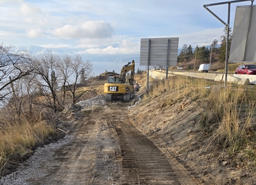
[[[172,93],[69,107],[59,125],[68,131],[65,144],[37,161],[26,184],[256,184],[248,161],[228,155],[199,127],[201,100],[167,105]]]

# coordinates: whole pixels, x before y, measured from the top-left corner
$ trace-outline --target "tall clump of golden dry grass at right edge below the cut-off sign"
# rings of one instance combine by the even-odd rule
[[[223,95],[223,119],[220,122],[220,143],[231,152],[240,150],[249,143],[252,131],[252,116],[255,112],[255,97],[250,97],[248,88],[229,88]]]

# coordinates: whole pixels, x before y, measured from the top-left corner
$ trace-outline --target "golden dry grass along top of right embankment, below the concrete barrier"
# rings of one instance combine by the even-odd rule
[[[195,101],[203,106],[199,122],[203,132],[212,135],[212,144],[218,144],[230,155],[242,153],[256,165],[256,87],[172,76],[164,81],[153,81],[142,101],[170,92],[166,105],[182,100]]]

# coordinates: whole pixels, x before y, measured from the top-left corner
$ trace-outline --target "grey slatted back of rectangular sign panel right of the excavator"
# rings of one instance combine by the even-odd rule
[[[142,38],[140,66],[176,66],[179,38]]]

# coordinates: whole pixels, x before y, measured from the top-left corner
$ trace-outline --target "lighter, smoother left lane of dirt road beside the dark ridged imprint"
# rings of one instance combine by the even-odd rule
[[[99,119],[98,113],[84,110],[75,124],[72,139],[41,165],[38,177],[28,184],[115,184],[120,179],[121,156],[115,129]],[[119,169],[120,168],[120,169]],[[43,174],[43,175],[42,175]]]

